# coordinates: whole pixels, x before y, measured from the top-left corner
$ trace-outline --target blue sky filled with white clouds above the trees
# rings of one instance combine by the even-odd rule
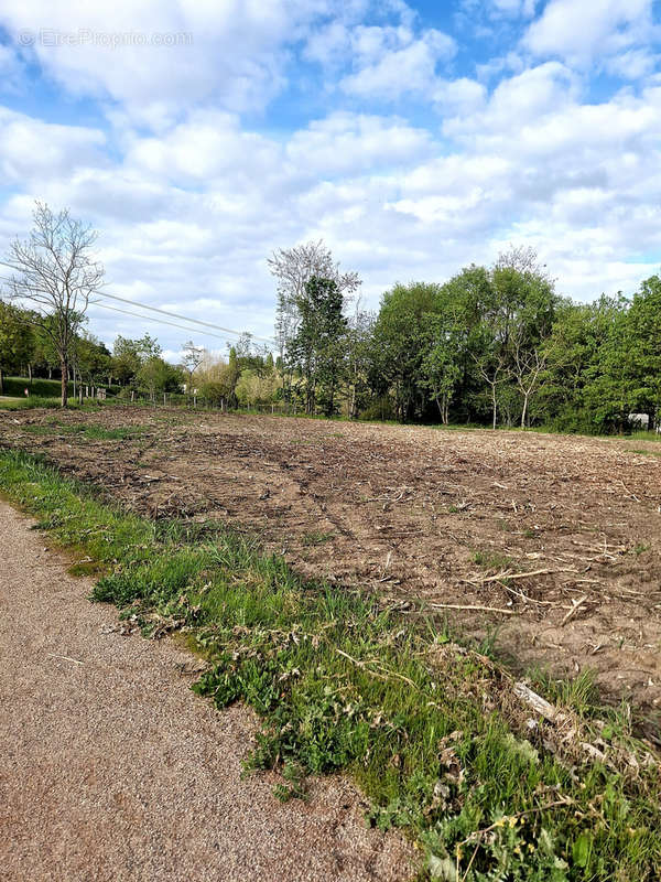
[[[366,309],[510,245],[575,300],[632,293],[661,266],[660,51],[652,0],[0,0],[0,254],[34,200],[69,207],[108,293],[264,337],[267,258],[319,238]]]

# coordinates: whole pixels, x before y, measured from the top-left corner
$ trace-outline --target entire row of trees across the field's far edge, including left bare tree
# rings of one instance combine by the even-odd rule
[[[250,335],[212,356],[188,341],[167,364],[149,334],[110,352],[85,329],[101,292],[96,232],[36,203],[15,239],[0,299],[0,392],[8,372],[118,383],[152,399],[186,390],[221,408],[271,407],[310,416],[402,422],[545,426],[621,431],[631,413],[661,421],[661,280],[627,297],[575,303],[530,248],[440,282],[397,283],[378,311],[361,280],[323,241],[274,251],[277,351]]]

